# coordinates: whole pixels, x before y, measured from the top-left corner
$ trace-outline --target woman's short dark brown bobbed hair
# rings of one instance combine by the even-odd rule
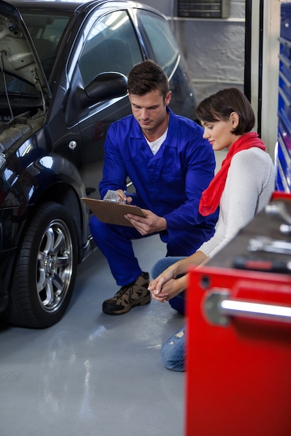
[[[246,95],[237,88],[226,88],[210,95],[196,109],[197,117],[210,123],[226,121],[232,112],[237,112],[239,116],[239,124],[232,133],[239,135],[251,132],[255,125],[255,114]]]

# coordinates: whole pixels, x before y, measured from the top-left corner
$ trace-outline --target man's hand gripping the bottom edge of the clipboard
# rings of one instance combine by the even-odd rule
[[[167,228],[165,218],[158,217],[147,209],[142,209],[142,212],[144,212],[144,217],[132,214],[124,215],[141,235],[151,235],[151,233],[161,232]]]

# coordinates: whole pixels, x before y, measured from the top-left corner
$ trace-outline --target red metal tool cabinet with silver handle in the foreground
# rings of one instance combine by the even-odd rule
[[[232,266],[235,256],[250,256],[255,235],[291,242],[281,222],[262,212],[207,265],[190,270],[186,436],[291,435],[291,273]]]

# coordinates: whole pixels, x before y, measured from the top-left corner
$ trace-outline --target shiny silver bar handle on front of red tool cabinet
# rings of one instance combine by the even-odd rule
[[[210,290],[204,297],[204,315],[211,324],[227,327],[230,317],[291,324],[291,307],[229,298],[229,290]]]

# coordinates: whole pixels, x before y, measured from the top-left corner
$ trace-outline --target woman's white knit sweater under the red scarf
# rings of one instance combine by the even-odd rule
[[[200,247],[212,258],[241,228],[269,203],[275,188],[275,169],[268,153],[258,147],[232,157],[214,236]]]

